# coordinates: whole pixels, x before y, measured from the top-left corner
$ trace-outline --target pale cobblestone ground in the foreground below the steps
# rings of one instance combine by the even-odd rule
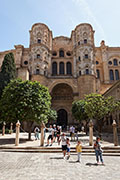
[[[120,157],[105,157],[105,166],[95,165],[94,156],[69,160],[62,154],[0,153],[0,180],[120,180]],[[90,164],[91,163],[91,164]]]

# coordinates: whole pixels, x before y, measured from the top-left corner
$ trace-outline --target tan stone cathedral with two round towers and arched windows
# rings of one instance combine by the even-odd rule
[[[53,37],[42,23],[34,24],[29,32],[29,47],[15,45],[15,49],[0,52],[0,66],[5,54],[13,52],[18,77],[48,87],[59,124],[75,123],[71,114],[74,100],[92,92],[104,94],[119,80],[120,47],[109,47],[104,41],[96,47],[90,24],[76,26],[71,37]]]

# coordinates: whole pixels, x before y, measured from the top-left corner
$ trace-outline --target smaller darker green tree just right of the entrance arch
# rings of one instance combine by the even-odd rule
[[[72,115],[73,117],[79,121],[80,123],[82,123],[82,121],[86,121],[86,127],[85,127],[85,131],[87,134],[87,125],[88,125],[88,116],[85,112],[85,100],[78,100],[78,101],[74,101],[72,103]]]

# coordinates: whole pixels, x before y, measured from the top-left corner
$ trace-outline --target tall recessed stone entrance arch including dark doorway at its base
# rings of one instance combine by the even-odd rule
[[[58,113],[57,123],[66,127],[72,123],[73,90],[68,84],[59,83],[52,89],[51,96],[52,108]]]

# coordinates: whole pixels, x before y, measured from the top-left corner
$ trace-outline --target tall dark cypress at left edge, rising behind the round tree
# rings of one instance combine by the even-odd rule
[[[13,53],[5,55],[0,72],[0,97],[7,84],[16,78],[16,66]]]

